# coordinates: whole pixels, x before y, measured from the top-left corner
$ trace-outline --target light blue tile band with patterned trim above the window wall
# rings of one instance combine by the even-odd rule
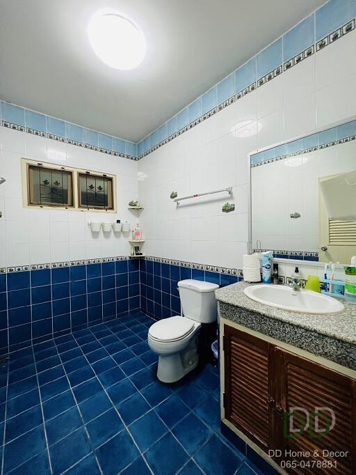
[[[137,143],[0,101],[1,125],[71,145],[97,150],[115,157],[137,160]]]

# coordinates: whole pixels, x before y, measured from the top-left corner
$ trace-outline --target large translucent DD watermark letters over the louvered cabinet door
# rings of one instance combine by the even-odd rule
[[[325,437],[334,428],[335,422],[335,413],[329,407],[317,406],[314,412],[310,412],[304,407],[294,406],[283,414],[283,435],[286,439],[305,433],[310,439]]]

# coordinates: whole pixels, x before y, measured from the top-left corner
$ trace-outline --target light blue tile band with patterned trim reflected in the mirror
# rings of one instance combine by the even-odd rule
[[[343,133],[344,130],[348,130],[347,134]],[[324,137],[332,137],[333,139],[331,141],[325,141]],[[350,142],[355,139],[356,120],[351,120],[350,122],[346,122],[342,125],[337,125],[337,127],[331,127],[330,129],[325,129],[322,132],[307,135],[302,137],[302,139],[286,142],[282,145],[268,148],[263,152],[254,153],[251,155],[251,168],[278,162],[279,160],[284,160],[289,157],[296,157],[297,155],[315,152],[316,150],[323,150],[323,148],[339,145],[340,143]],[[314,141],[313,146],[305,146],[305,143],[311,141]],[[289,152],[289,149],[293,150],[293,152]]]

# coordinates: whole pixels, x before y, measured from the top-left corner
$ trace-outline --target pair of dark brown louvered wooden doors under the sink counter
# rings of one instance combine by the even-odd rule
[[[223,350],[227,421],[287,473],[356,473],[356,380],[229,325]]]

